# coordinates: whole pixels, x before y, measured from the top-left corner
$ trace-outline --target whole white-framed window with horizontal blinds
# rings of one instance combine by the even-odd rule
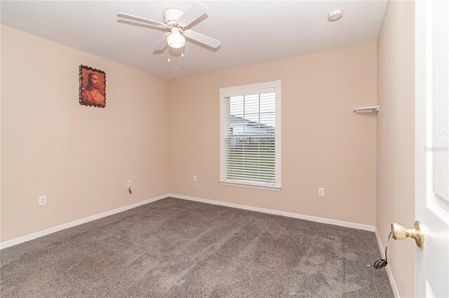
[[[220,89],[220,183],[281,188],[281,81]]]

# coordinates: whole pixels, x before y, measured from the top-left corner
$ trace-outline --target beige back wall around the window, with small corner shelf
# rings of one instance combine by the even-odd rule
[[[376,76],[368,43],[170,80],[170,192],[375,225],[376,118],[352,110],[377,103]],[[218,89],[271,80],[282,83],[282,190],[220,185]]]

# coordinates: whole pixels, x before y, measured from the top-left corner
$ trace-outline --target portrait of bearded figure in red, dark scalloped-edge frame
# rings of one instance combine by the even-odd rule
[[[106,73],[89,66],[79,66],[79,104],[106,106]]]

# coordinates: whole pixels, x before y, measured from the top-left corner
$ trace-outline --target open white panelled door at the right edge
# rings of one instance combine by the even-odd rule
[[[449,297],[449,1],[416,1],[415,24],[415,296]]]

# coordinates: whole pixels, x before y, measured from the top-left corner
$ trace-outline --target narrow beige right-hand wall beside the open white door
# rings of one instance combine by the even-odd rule
[[[377,40],[377,230],[415,221],[415,3],[389,1]],[[394,241],[389,267],[399,295],[414,295],[415,247]]]

